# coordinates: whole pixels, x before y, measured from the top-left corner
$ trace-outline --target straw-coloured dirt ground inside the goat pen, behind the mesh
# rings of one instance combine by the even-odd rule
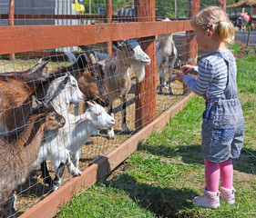
[[[24,71],[31,67],[33,64],[36,64],[35,61],[29,61],[26,64],[22,64],[19,60],[15,62],[10,62],[3,60],[3,63],[0,63],[0,72],[12,72],[12,71]],[[49,70],[57,67],[56,64],[48,64]],[[179,69],[174,69],[173,73],[180,72]],[[158,76],[159,77],[159,76]],[[168,77],[168,75],[167,75]],[[116,119],[116,125],[114,127],[116,137],[115,139],[108,140],[107,131],[100,130],[100,134],[97,136],[92,136],[88,139],[87,144],[82,149],[81,159],[79,167],[81,171],[84,171],[88,163],[90,163],[98,155],[108,154],[109,151],[117,147],[119,144],[125,142],[129,137],[135,134],[135,84],[136,78],[134,74],[131,74],[132,78],[132,87],[128,93],[128,107],[127,107],[127,124],[131,131],[131,134],[122,134],[121,128],[121,113],[120,113],[120,100],[117,100],[114,104],[114,114]],[[172,89],[174,95],[169,95],[169,90],[163,89],[164,94],[157,94],[157,116],[166,111],[169,107],[176,104],[181,100],[185,95],[183,95],[183,84],[180,84],[178,81],[174,80],[173,74]],[[168,80],[168,78],[167,78]],[[158,78],[159,84],[159,78]],[[159,92],[159,87],[158,87]],[[70,113],[73,113],[73,107],[69,108]],[[54,177],[53,167],[51,161],[47,161],[50,173]],[[16,201],[16,211],[18,214],[26,212],[33,205],[38,203],[40,200],[45,198],[51,190],[47,185],[43,183],[41,178],[41,172],[39,166],[37,169],[33,170],[30,173],[29,178],[26,180],[26,183],[21,185],[17,190],[17,201]],[[63,175],[63,184],[67,183],[72,178],[71,174],[65,170]]]

